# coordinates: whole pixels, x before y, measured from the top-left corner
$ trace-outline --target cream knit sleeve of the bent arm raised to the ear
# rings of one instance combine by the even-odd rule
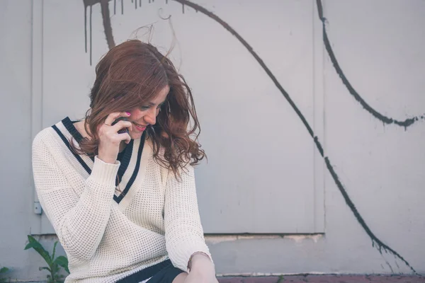
[[[64,174],[64,166],[69,166],[64,160],[55,158],[40,137],[34,139],[33,176],[40,204],[67,254],[89,260],[108,223],[120,163],[104,163],[96,157],[89,178],[72,182],[81,185],[82,193],[77,195]]]

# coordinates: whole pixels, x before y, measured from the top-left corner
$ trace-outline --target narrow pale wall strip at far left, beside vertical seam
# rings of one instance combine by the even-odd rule
[[[0,1],[0,266],[15,279],[42,279],[40,257],[23,248],[33,214],[31,175],[32,1]]]

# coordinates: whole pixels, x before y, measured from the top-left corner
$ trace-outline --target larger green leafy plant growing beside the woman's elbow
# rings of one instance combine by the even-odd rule
[[[63,255],[58,256],[55,258],[55,251],[56,251],[56,245],[57,241],[53,245],[53,251],[52,256],[50,256],[49,252],[45,250],[45,248],[42,247],[40,242],[35,240],[33,236],[28,235],[28,245],[25,247],[25,250],[28,250],[29,248],[33,248],[41,257],[45,260],[48,267],[39,267],[39,270],[47,270],[50,272],[50,275],[47,275],[47,283],[57,283],[57,282],[64,282],[63,278],[64,275],[60,275],[60,267],[64,267],[64,270],[68,272],[68,259],[65,258]]]

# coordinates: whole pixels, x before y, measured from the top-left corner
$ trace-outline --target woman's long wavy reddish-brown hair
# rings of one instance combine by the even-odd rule
[[[188,163],[198,164],[205,152],[198,143],[200,125],[191,89],[169,58],[157,47],[140,40],[128,40],[113,47],[98,62],[84,124],[89,138],[80,141],[79,148],[73,146],[74,151],[89,156],[98,154],[97,129],[106,117],[111,112],[144,105],[165,86],[170,90],[157,123],[146,129],[152,139],[154,159],[176,176]]]

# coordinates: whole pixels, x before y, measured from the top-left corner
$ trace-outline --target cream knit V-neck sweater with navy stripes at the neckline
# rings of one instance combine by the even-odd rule
[[[210,255],[191,166],[176,180],[155,163],[149,139],[127,146],[125,164],[104,163],[74,155],[72,136],[79,139],[65,118],[33,141],[35,188],[67,253],[66,282],[115,282],[168,258],[187,271],[193,253]],[[125,197],[115,195],[117,174]]]

